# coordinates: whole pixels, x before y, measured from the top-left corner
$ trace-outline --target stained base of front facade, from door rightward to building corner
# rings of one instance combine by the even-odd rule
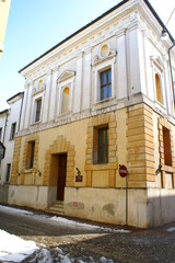
[[[66,187],[65,214],[72,217],[126,225],[126,191],[122,188]],[[128,225],[148,228],[147,190],[129,190]]]

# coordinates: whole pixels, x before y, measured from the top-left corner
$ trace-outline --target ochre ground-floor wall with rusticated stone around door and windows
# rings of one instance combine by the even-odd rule
[[[107,124],[109,129],[109,162],[94,164],[93,129],[104,124]],[[173,126],[163,118],[158,116],[155,118],[152,110],[143,103],[19,137],[15,142],[11,183],[56,186],[56,179],[51,179],[51,173],[52,178],[56,176],[55,169],[52,167],[50,169],[50,165],[57,165],[51,163],[54,161],[51,158],[54,155],[67,152],[67,186],[125,187],[126,180],[118,173],[119,164],[128,168],[129,187],[147,188],[150,183],[156,185],[155,170],[159,161],[154,153],[159,153],[156,148],[159,144],[163,144],[161,142],[163,126],[171,129],[171,145],[174,152]],[[158,136],[160,142],[155,144]],[[31,171],[25,169],[26,142],[30,140],[35,140],[36,144],[34,169]],[[160,155],[164,165],[163,152],[161,151]],[[173,167],[174,163],[173,155]],[[75,168],[79,168],[83,175],[82,182],[75,182]],[[166,167],[164,170],[174,171]],[[31,183],[26,179],[30,178],[28,174],[31,174]]]

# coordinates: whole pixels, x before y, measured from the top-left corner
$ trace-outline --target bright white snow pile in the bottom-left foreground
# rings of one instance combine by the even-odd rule
[[[31,263],[44,263],[44,262],[61,262],[61,263],[94,263],[93,256],[82,255],[79,259],[70,258],[69,254],[65,254],[61,249],[54,248],[51,251],[47,249],[38,249],[33,241],[25,241],[14,235],[10,235],[7,231],[0,230],[0,262],[24,262],[24,260]],[[102,256],[100,263],[114,263],[113,260],[107,260]]]

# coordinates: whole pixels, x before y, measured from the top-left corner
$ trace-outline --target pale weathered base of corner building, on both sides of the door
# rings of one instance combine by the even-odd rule
[[[8,190],[4,192],[3,188],[0,195],[0,202],[4,204],[7,204],[5,193]],[[8,203],[45,210],[49,195],[47,186],[10,185]],[[175,190],[131,188],[128,191],[128,225],[137,228],[151,228],[175,221],[174,204]],[[65,214],[70,217],[125,226],[126,191],[122,188],[66,187],[63,208]]]

